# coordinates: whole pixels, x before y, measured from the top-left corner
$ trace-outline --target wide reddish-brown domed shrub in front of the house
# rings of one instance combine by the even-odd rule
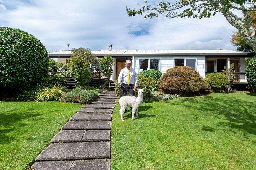
[[[210,89],[195,69],[188,66],[176,66],[168,69],[158,80],[159,88],[170,94],[185,94],[203,92]]]

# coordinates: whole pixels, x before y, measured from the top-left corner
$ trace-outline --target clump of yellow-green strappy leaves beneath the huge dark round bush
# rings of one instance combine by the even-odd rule
[[[35,101],[56,101],[67,91],[63,86],[44,87],[36,94]]]

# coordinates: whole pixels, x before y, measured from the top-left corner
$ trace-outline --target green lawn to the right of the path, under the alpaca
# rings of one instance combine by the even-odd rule
[[[111,126],[112,169],[256,169],[256,94],[143,103]],[[129,110],[128,110],[129,111]]]

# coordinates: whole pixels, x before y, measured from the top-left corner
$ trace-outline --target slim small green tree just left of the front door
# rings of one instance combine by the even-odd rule
[[[100,62],[100,70],[108,78],[108,81],[111,75],[113,74],[113,69],[112,69],[113,64],[114,64],[114,60],[109,54],[103,57]],[[108,81],[106,81],[106,83]],[[106,83],[104,85],[106,85]]]

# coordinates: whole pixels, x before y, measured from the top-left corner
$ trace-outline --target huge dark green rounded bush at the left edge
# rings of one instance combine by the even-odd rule
[[[0,27],[0,87],[13,91],[34,87],[48,76],[44,45],[19,29]]]

